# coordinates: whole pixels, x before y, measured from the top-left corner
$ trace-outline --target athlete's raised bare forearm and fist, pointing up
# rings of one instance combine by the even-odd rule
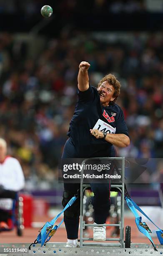
[[[90,67],[90,64],[86,61],[82,61],[79,64],[78,89],[81,92],[84,92],[89,88],[89,77],[88,77],[89,67]]]

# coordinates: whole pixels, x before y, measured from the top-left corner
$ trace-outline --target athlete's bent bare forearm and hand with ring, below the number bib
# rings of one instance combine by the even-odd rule
[[[95,132],[95,133],[94,133]],[[98,129],[90,129],[90,133],[96,138],[103,138],[103,133]],[[107,133],[105,141],[112,143],[114,146],[123,148],[130,145],[130,139],[127,135],[121,133]]]

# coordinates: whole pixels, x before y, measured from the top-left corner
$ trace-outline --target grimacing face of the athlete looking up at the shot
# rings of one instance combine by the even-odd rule
[[[103,106],[108,106],[109,102],[115,99],[115,97],[113,97],[114,87],[113,85],[108,84],[107,81],[104,81],[100,85],[98,93],[100,95],[100,102]]]

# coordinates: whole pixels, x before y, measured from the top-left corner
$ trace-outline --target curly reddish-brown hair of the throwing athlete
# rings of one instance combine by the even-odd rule
[[[113,104],[117,100],[118,96],[120,95],[120,82],[116,79],[116,77],[113,74],[107,74],[98,83],[98,88],[105,81],[107,81],[108,84],[112,85],[114,88],[113,97],[115,97],[115,99],[110,102],[111,104]]]

